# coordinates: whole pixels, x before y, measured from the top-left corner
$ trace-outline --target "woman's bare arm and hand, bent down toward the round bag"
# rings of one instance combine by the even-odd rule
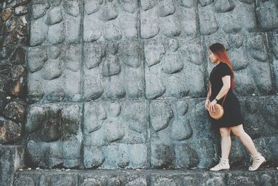
[[[226,95],[228,93],[229,89],[231,88],[231,76],[226,75],[226,76],[222,77],[222,82],[223,82],[223,86],[222,86],[221,90],[219,91],[218,95],[216,95],[215,99],[208,105],[209,111],[215,111],[214,104],[217,103],[216,100],[220,100],[221,98],[224,97],[224,95]]]

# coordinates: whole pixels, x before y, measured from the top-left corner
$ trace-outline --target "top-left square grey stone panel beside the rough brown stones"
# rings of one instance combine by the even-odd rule
[[[30,45],[58,45],[80,42],[81,1],[34,1]]]

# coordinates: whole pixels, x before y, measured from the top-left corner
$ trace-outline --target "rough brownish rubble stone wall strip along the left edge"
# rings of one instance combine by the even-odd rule
[[[24,166],[28,1],[0,1],[0,185]]]

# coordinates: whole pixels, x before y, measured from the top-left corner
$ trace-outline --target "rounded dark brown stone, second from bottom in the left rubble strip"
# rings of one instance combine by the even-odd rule
[[[3,114],[14,121],[23,123],[25,121],[25,105],[18,101],[9,102]]]

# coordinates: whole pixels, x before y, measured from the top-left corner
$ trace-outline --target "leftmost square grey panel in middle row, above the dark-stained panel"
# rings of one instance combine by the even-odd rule
[[[29,48],[28,101],[71,101],[81,91],[80,65],[80,45]]]

